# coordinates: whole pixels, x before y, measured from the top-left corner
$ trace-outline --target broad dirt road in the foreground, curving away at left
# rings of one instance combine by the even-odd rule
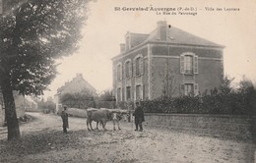
[[[35,119],[22,125],[22,139],[7,141],[0,130],[0,162],[88,162],[88,163],[250,163],[255,144],[211,136],[145,127],[134,132],[131,123],[122,130],[88,132],[86,119],[70,118],[69,134],[62,134],[55,115],[28,113]],[[96,126],[96,124],[93,124]],[[134,127],[133,127],[134,128]]]

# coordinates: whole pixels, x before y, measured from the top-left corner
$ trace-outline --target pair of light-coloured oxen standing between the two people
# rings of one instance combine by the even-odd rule
[[[120,130],[119,121],[123,115],[128,114],[126,110],[121,109],[106,109],[106,108],[88,108],[87,109],[87,129],[93,131],[92,123],[96,122],[96,130],[98,130],[98,124],[101,124],[102,129],[106,131],[105,125],[108,121],[113,122],[113,130],[115,131],[115,125]],[[90,129],[91,128],[91,129]]]

